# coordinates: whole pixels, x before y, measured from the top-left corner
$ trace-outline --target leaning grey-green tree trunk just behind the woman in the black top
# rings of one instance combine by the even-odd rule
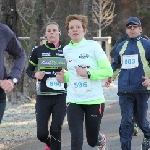
[[[45,9],[46,9],[46,0],[36,0],[35,9],[33,12],[32,17],[32,25],[30,27],[30,41],[29,41],[29,55],[32,49],[40,44],[40,36],[44,35],[45,29],[44,22],[45,22]],[[44,32],[43,32],[44,31]],[[27,60],[28,64],[28,60]],[[35,91],[35,81],[29,78],[26,74],[24,74],[24,86],[23,86],[23,94],[28,98],[35,98],[36,91]]]

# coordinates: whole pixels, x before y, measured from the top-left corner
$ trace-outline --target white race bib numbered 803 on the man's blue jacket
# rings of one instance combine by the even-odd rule
[[[135,55],[123,55],[122,69],[132,69],[139,66],[138,54]]]

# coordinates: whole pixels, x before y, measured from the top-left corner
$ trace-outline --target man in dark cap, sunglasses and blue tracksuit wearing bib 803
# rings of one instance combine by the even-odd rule
[[[150,78],[150,41],[141,36],[141,22],[137,17],[126,21],[126,40],[118,44],[114,52],[112,68],[114,74],[106,86],[118,76],[118,96],[121,109],[119,128],[122,150],[131,150],[133,135],[132,116],[144,134],[142,147],[150,147],[150,127],[147,120],[150,87],[143,86],[144,76]]]

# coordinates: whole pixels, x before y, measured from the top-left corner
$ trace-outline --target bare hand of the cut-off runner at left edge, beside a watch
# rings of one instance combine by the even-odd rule
[[[11,92],[14,89],[14,84],[11,79],[0,80],[0,87],[6,92]]]

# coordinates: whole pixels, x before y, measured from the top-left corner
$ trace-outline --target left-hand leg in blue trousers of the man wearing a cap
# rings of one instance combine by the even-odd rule
[[[122,150],[131,150],[131,140],[133,135],[133,108],[134,97],[131,94],[119,93],[119,105],[121,109],[121,125],[119,128],[120,142]]]

